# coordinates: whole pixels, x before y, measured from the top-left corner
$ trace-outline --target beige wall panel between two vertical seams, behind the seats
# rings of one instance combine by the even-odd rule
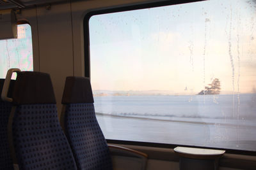
[[[58,113],[65,78],[73,75],[73,48],[70,4],[37,8],[40,71],[51,74]]]

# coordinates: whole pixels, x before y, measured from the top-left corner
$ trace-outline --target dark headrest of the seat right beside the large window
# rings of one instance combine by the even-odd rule
[[[85,77],[68,76],[62,97],[62,104],[93,103],[90,80]]]

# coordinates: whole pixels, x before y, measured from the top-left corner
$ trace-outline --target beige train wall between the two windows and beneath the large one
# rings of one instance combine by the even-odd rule
[[[51,74],[59,115],[65,78],[84,76],[84,15],[92,10],[140,3],[148,3],[148,1],[76,1],[52,4],[48,8],[36,6],[22,9],[17,15],[18,20],[26,20],[31,25],[34,71]],[[147,146],[128,147],[148,153],[148,170],[179,169],[179,158],[173,149]],[[246,167],[255,166],[256,158],[248,155],[225,154],[221,161],[220,169],[223,170],[247,169]]]

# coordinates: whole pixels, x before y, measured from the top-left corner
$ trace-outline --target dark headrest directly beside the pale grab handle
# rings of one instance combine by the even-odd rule
[[[51,77],[47,73],[17,73],[13,89],[14,104],[56,104]]]

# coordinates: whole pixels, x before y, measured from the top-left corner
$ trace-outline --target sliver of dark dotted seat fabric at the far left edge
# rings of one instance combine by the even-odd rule
[[[0,169],[13,169],[13,162],[8,144],[8,119],[12,104],[0,101]]]

